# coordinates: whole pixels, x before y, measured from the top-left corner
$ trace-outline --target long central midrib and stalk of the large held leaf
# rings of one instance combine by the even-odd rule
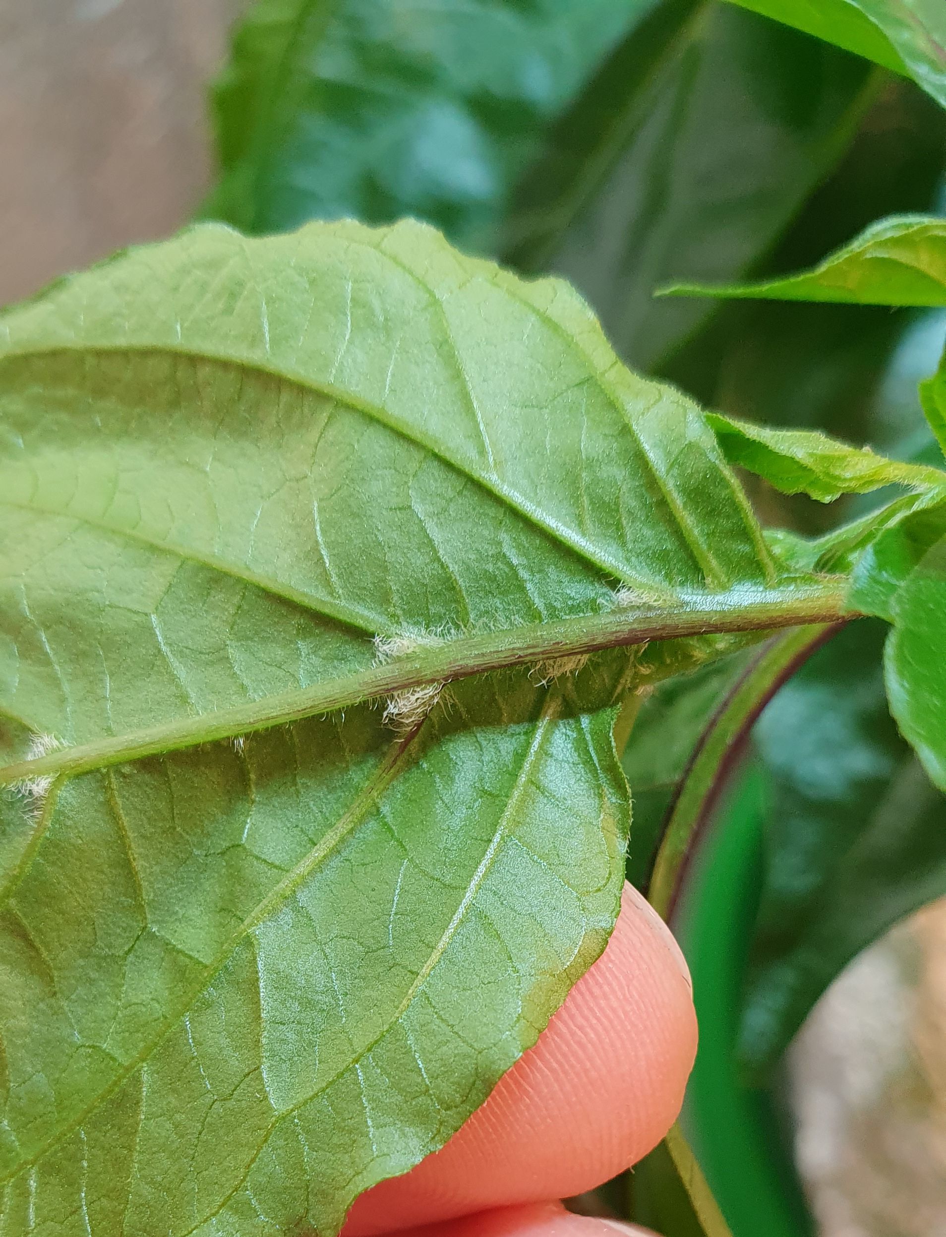
[[[193,747],[331,713],[411,688],[448,683],[486,670],[714,632],[751,632],[837,621],[843,612],[840,579],[790,589],[736,589],[681,600],[678,606],[620,606],[597,615],[531,623],[509,631],[424,644],[366,670],[310,688],[251,700],[232,709],[182,717],[66,747],[38,760],[0,768],[0,784],[58,773],[85,773],[161,752]]]

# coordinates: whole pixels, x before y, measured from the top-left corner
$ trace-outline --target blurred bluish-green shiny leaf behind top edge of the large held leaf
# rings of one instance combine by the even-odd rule
[[[214,90],[244,231],[415,215],[491,249],[514,181],[601,56],[654,0],[257,0]]]

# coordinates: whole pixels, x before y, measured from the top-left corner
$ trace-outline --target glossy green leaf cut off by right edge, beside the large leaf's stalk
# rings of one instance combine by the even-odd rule
[[[890,604],[884,666],[890,711],[926,772],[946,789],[946,538],[906,575]]]

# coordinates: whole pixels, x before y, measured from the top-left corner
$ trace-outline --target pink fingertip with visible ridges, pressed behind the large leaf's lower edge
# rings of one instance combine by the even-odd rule
[[[686,964],[626,886],[607,949],[534,1048],[440,1152],[362,1195],[343,1237],[592,1189],[663,1138],[695,1053]]]

